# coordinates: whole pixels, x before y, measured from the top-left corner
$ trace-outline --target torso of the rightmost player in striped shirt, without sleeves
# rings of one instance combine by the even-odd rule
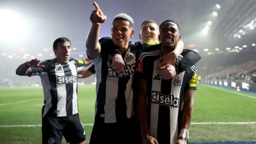
[[[147,55],[149,55],[148,53]],[[147,113],[150,133],[158,142],[172,143],[178,138],[178,114],[182,101],[182,94],[187,81],[187,72],[182,72],[170,80],[161,79],[159,69],[160,51],[146,56],[147,69]],[[145,60],[144,60],[145,61]]]

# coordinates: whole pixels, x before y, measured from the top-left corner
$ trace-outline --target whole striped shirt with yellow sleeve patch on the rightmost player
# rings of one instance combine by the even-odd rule
[[[159,78],[158,58],[160,44],[155,45],[137,58],[134,78],[146,79],[147,117],[150,134],[159,144],[174,144],[181,130],[182,98],[187,89],[196,90],[196,66],[178,73],[170,80]],[[178,56],[181,60],[183,56]]]

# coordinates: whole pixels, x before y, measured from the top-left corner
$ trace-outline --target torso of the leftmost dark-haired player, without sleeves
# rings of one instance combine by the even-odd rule
[[[57,116],[76,113],[78,110],[74,107],[77,107],[75,106],[77,100],[72,102],[74,98],[77,99],[77,68],[75,61],[71,59],[68,63],[60,63],[53,60],[45,76],[48,78],[41,78],[42,84],[44,83],[45,108],[50,108],[50,113]],[[66,105],[70,105],[70,108]]]

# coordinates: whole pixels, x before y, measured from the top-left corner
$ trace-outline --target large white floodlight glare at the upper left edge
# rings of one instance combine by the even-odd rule
[[[5,42],[24,37],[28,33],[26,20],[17,12],[0,10],[0,38]]]

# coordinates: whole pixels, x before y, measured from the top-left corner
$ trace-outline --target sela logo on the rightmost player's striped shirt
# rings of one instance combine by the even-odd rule
[[[161,94],[161,92],[152,91],[151,103],[178,108],[179,98],[175,98],[173,95],[166,96],[164,94]]]

